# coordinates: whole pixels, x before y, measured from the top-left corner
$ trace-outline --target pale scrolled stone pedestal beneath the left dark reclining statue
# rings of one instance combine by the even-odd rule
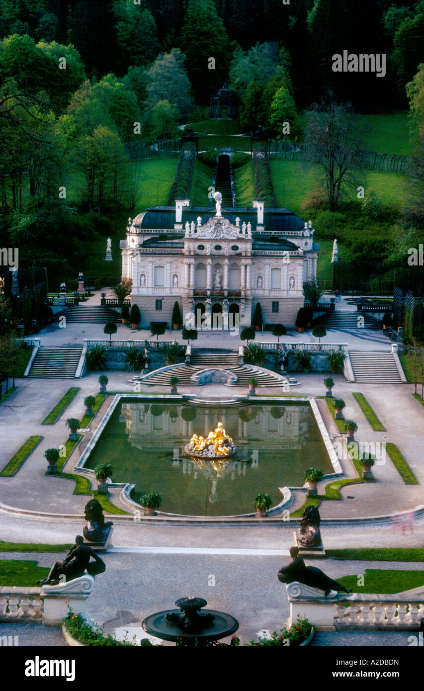
[[[81,614],[90,621],[88,615],[88,597],[93,589],[93,576],[84,574],[80,578],[69,580],[59,585],[44,585],[41,597],[44,598],[44,626],[61,626],[62,619],[67,616],[69,609],[75,614]]]

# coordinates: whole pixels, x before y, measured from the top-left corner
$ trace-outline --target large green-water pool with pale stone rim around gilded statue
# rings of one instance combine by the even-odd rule
[[[77,464],[92,474],[100,461],[112,463],[113,482],[128,486],[125,504],[137,511],[146,492],[162,493],[158,516],[253,517],[253,498],[266,491],[269,513],[291,503],[289,486],[304,484],[311,464],[329,479],[341,474],[336,453],[314,399],[263,397],[187,401],[185,397],[117,395]],[[205,439],[223,422],[234,444],[227,457],[193,457],[193,435]],[[189,453],[186,457],[184,451]],[[283,494],[283,497],[281,496]]]

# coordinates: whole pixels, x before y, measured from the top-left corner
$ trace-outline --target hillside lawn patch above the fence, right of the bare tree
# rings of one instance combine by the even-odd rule
[[[365,135],[365,148],[368,151],[399,155],[412,153],[409,142],[408,111],[363,115],[363,121],[369,127]]]

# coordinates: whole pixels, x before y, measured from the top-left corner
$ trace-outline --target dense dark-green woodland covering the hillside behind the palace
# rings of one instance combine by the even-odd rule
[[[334,141],[340,132],[347,141],[347,113],[409,107],[416,204],[400,218],[375,198],[368,208],[387,251],[401,251],[400,236],[422,236],[424,0],[3,0],[0,12],[0,234],[21,262],[66,258],[79,270],[79,257],[133,208],[135,142],[207,118],[224,79],[240,97],[241,131],[260,123],[283,138],[289,122],[296,142],[325,142],[320,126],[335,104]],[[334,73],[343,50],[385,53],[385,78]],[[325,155],[316,151],[322,168]],[[345,181],[316,200],[321,214],[345,212]]]

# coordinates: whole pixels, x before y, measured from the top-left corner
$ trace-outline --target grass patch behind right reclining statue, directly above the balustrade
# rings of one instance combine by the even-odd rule
[[[342,576],[338,582],[354,593],[401,593],[424,585],[424,571],[406,569],[365,569],[364,585],[358,585],[358,576]]]

